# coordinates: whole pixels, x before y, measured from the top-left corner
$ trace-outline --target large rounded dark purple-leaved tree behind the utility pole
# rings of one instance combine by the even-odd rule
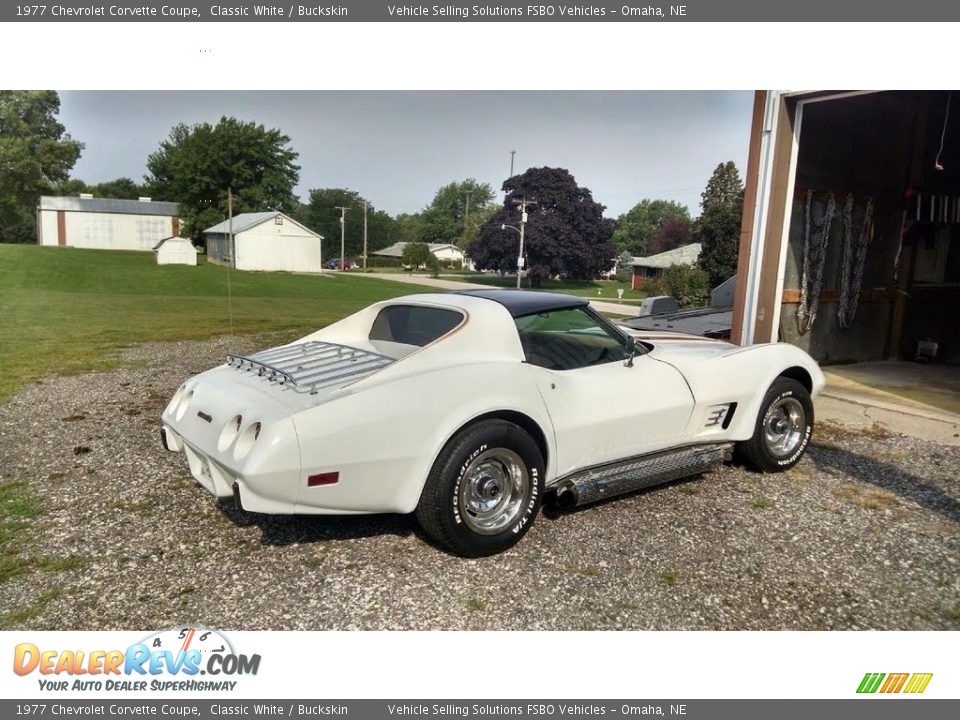
[[[563,275],[589,280],[610,267],[613,247],[610,236],[616,222],[603,217],[604,206],[590,191],[577,185],[563,168],[530,168],[509,178],[504,207],[493,214],[480,235],[468,247],[479,269],[516,272],[517,233],[503,225],[519,223],[515,201],[536,200],[528,206],[524,254],[532,287],[543,278]]]

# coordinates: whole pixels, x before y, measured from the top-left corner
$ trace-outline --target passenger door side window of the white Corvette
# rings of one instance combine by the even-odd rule
[[[585,308],[515,318],[526,361],[549,370],[575,370],[626,360],[627,339]]]

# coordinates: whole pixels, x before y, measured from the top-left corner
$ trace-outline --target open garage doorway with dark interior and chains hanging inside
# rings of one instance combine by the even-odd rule
[[[735,339],[955,387],[960,93],[758,93],[743,242]]]

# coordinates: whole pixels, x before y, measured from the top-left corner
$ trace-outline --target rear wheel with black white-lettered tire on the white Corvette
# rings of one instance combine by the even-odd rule
[[[533,525],[543,502],[543,476],[543,455],[523,428],[483,420],[440,452],[420,494],[417,521],[461,557],[503,552]]]

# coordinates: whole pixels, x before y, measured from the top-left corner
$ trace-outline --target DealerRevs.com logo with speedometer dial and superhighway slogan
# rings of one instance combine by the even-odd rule
[[[199,627],[162,630],[126,650],[20,643],[13,655],[14,673],[36,673],[40,689],[49,691],[232,691],[238,682],[233,678],[259,669],[260,655],[237,653],[223,634]]]

